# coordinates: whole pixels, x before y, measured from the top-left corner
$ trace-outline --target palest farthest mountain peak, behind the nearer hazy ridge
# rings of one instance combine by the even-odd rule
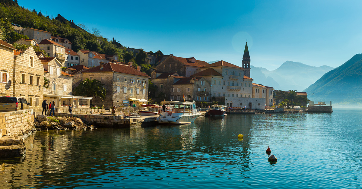
[[[303,89],[331,70],[333,70],[333,67],[330,66],[315,67],[291,61],[286,61],[273,71],[266,70],[265,68],[261,69],[267,78],[273,78],[280,85],[280,88],[274,88],[282,91],[303,91]]]

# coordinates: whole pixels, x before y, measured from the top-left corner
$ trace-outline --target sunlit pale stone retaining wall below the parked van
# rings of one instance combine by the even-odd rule
[[[33,128],[33,109],[0,113],[0,136],[21,136],[31,132]]]

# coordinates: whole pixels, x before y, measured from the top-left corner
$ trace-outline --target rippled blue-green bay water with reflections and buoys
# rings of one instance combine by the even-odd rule
[[[361,119],[334,110],[41,131],[25,158],[1,159],[0,188],[362,188]]]

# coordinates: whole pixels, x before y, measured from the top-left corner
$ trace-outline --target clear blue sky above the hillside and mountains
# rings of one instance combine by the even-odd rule
[[[361,0],[67,1],[20,6],[60,13],[123,46],[275,70],[286,61],[338,67],[362,53]]]

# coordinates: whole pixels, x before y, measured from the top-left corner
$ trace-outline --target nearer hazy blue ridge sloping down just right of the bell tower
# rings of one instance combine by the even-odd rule
[[[250,66],[250,77],[254,79],[253,83],[273,87],[274,89],[280,89],[281,87],[277,81],[270,76],[266,77],[265,74],[263,74],[263,71],[269,70],[266,70],[266,68]]]

